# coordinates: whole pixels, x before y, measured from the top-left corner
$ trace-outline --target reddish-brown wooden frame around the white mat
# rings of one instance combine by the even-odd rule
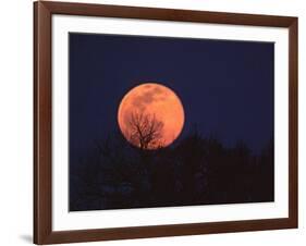
[[[289,28],[289,218],[52,231],[52,14]],[[66,2],[34,3],[34,243],[57,244],[297,227],[297,17]]]

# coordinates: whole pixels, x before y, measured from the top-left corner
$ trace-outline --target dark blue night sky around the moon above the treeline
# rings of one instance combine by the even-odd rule
[[[70,34],[70,153],[118,130],[117,111],[134,86],[172,88],[185,110],[181,137],[196,124],[225,146],[254,153],[273,137],[271,42]]]

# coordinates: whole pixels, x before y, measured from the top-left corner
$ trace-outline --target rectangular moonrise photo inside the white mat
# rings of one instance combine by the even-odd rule
[[[71,212],[274,201],[274,42],[68,41]]]

